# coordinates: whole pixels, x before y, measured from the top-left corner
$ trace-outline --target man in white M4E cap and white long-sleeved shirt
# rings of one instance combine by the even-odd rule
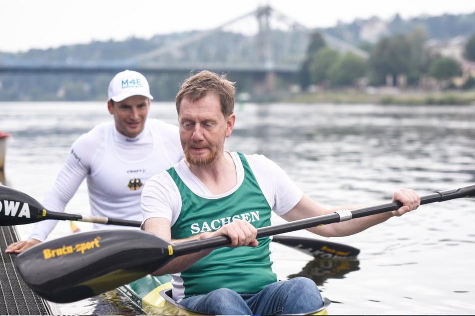
[[[107,109],[114,122],[98,124],[72,144],[42,202],[46,209],[64,212],[87,178],[92,215],[142,220],[143,184],[183,158],[178,127],[157,119],[147,120],[151,99],[148,81],[141,73],[125,70],[112,78]],[[12,243],[6,252],[20,253],[44,241],[56,223],[56,220],[37,222],[27,240]],[[94,224],[93,228],[113,226]]]

